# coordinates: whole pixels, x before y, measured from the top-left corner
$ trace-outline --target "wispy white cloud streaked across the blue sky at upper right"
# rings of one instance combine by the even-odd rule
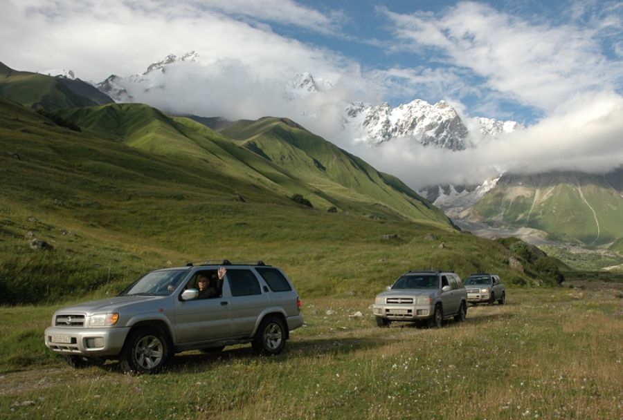
[[[436,55],[484,78],[482,86],[544,111],[578,93],[611,89],[621,75],[620,62],[600,53],[594,26],[531,23],[473,2],[441,16],[386,15],[395,23],[397,50]]]

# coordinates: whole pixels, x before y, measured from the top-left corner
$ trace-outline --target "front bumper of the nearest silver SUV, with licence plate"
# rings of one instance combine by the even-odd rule
[[[123,348],[129,327],[64,328],[48,327],[46,346],[62,354],[117,356]]]

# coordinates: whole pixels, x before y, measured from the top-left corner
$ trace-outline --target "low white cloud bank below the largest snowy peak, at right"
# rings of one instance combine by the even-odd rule
[[[475,149],[452,152],[397,139],[358,152],[415,189],[437,183],[476,184],[501,172],[608,173],[623,165],[621,115],[620,95],[590,93],[539,124],[502,139],[481,141]]]

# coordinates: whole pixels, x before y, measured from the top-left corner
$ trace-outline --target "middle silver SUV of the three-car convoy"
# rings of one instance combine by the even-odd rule
[[[372,312],[379,327],[392,321],[427,321],[441,327],[444,318],[465,321],[467,292],[452,271],[409,271],[377,295]]]

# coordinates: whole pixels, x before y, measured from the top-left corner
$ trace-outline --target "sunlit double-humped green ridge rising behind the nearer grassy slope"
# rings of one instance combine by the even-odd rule
[[[237,122],[222,133],[143,104],[110,104],[60,111],[83,129],[165,156],[218,166],[244,182],[307,198],[316,208],[371,218],[451,222],[406,185],[289,120]],[[246,136],[242,138],[242,136]],[[233,137],[236,140],[232,140]],[[249,138],[247,138],[249,137]]]

